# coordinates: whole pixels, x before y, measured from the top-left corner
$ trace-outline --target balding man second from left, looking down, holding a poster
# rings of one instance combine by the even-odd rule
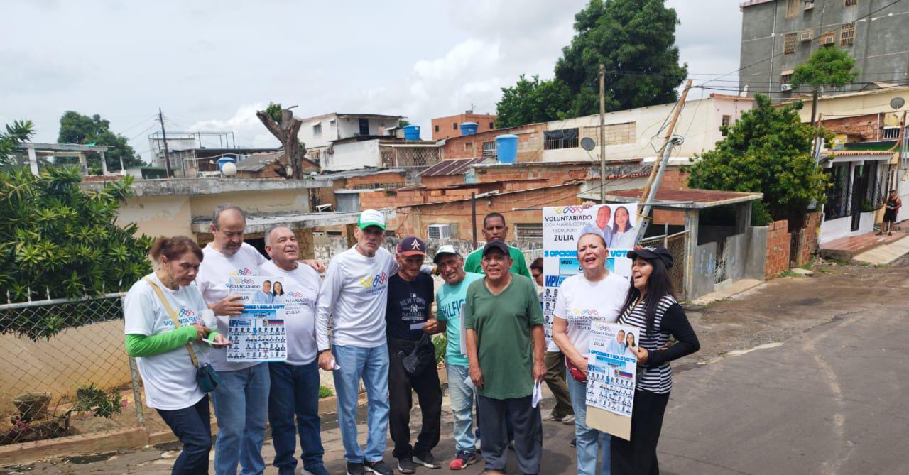
[[[265,263],[265,256],[243,242],[245,228],[246,216],[239,206],[222,204],[215,208],[210,226],[214,240],[202,250],[205,259],[195,279],[205,303],[217,316],[217,331],[222,335],[227,334],[229,315],[243,311],[241,297],[229,295],[230,276],[257,275],[259,265]],[[268,366],[228,362],[225,351],[209,351],[208,361],[223,380],[212,401],[218,423],[215,474],[235,474],[237,463],[244,475],[262,473]]]

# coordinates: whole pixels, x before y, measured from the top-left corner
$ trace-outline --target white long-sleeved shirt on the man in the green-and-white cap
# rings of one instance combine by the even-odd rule
[[[385,343],[388,278],[397,270],[395,257],[383,248],[366,257],[354,246],[332,258],[315,312],[319,350],[329,348],[330,316],[336,345],[375,348]]]

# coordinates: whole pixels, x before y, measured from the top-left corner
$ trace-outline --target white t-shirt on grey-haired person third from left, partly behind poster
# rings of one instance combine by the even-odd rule
[[[285,271],[275,262],[265,262],[259,267],[260,275],[274,277],[281,282],[285,308],[277,311],[287,329],[287,363],[309,364],[315,361],[315,302],[319,298],[322,278],[312,267],[300,263],[293,271]],[[275,296],[275,303],[279,301]]]

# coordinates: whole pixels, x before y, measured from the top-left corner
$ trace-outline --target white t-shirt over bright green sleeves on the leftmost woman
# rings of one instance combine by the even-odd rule
[[[171,309],[180,315],[181,326],[192,325],[208,308],[195,283],[172,291],[158,280],[154,272],[149,276],[161,288]],[[176,328],[155,289],[145,279],[135,282],[126,292],[123,305],[127,335],[153,336],[173,332]],[[205,349],[191,344],[196,357],[201,357]],[[136,358],[135,361],[145,383],[145,403],[148,407],[175,411],[188,408],[205,396],[195,381],[195,366],[185,346],[155,356]]]

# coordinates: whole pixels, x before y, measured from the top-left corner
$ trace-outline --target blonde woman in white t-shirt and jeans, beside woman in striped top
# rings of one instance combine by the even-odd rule
[[[555,298],[553,341],[565,355],[569,376],[568,391],[574,408],[574,436],[577,438],[577,473],[609,474],[610,436],[587,427],[587,350],[591,322],[615,322],[628,293],[628,280],[606,270],[606,243],[599,233],[585,233],[577,241],[577,260],[582,273],[559,287]],[[601,470],[596,456],[603,450]]]

